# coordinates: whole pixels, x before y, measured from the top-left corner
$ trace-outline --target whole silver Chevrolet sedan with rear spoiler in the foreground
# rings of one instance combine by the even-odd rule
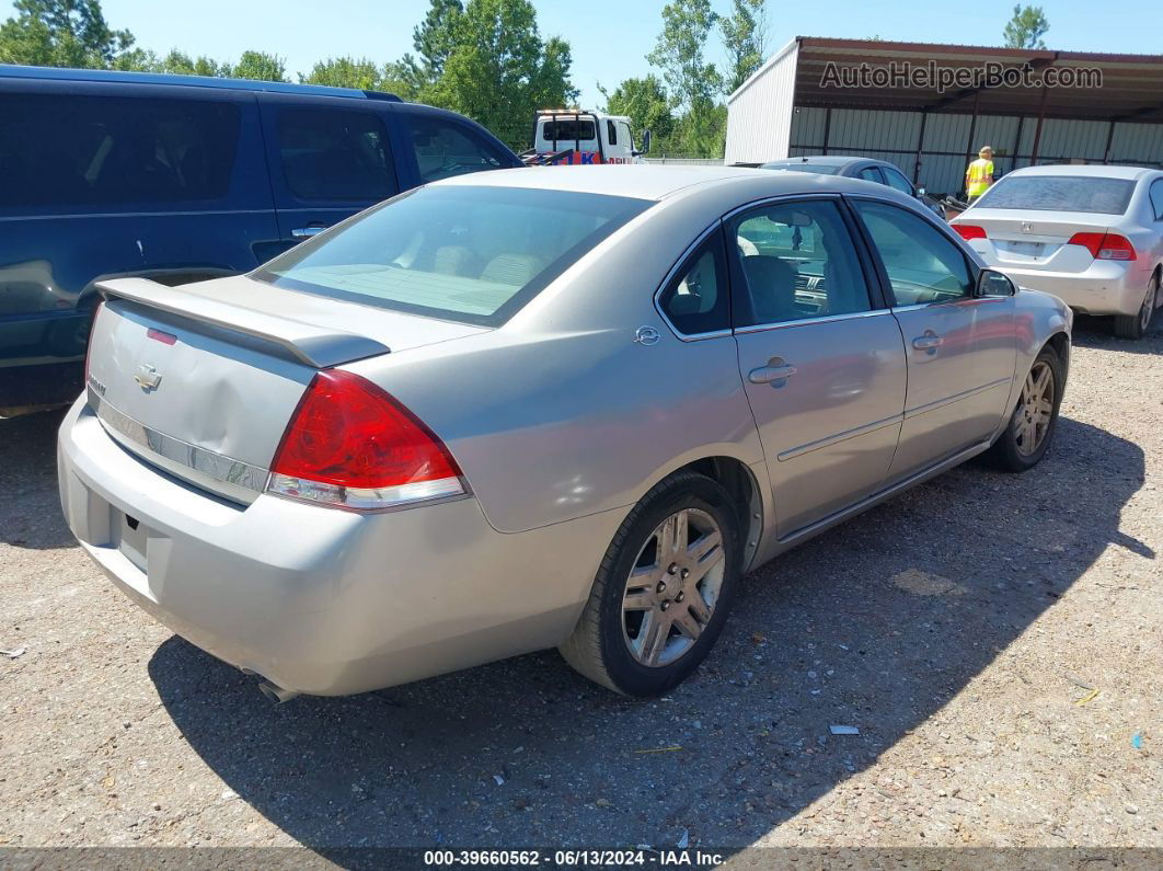
[[[1054,436],[1070,310],[799,172],[465,176],[242,277],[104,285],[59,436],[94,562],[264,691],[559,647],[665,692],[748,570]]]

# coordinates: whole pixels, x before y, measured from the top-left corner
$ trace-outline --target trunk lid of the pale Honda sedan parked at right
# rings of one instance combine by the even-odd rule
[[[970,241],[991,266],[1084,272],[1094,262],[1084,245],[1071,245],[1077,233],[1106,233],[1111,222],[1092,212],[1015,212],[973,208],[955,223],[985,230],[987,238]]]

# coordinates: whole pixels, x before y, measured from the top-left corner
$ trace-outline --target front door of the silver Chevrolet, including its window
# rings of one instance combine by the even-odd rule
[[[890,483],[992,436],[1016,364],[1014,300],[977,298],[976,267],[950,236],[902,206],[852,198],[908,357],[908,395]]]

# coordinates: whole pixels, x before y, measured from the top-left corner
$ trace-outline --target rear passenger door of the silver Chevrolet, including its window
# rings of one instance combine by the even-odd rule
[[[897,448],[905,349],[835,197],[726,222],[735,340],[787,538],[875,493]]]

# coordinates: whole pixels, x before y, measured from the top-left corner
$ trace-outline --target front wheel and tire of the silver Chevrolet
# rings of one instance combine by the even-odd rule
[[[1043,376],[1049,384],[1043,384]],[[1047,345],[1030,365],[1005,430],[985,454],[986,463],[1004,472],[1025,472],[1036,466],[1058,428],[1058,406],[1065,386],[1062,360]]]

